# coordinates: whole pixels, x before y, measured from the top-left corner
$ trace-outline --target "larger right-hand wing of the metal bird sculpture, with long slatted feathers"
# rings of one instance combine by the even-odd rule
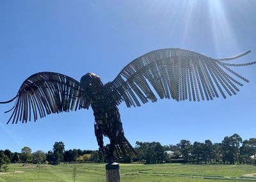
[[[140,102],[147,103],[148,100],[156,102],[152,88],[161,99],[200,101],[205,98],[212,100],[219,95],[226,98],[226,94],[236,95],[239,91],[237,86],[243,86],[234,79],[234,75],[249,82],[228,66],[247,66],[256,61],[245,64],[223,61],[236,59],[249,52],[236,57],[212,59],[191,50],[154,50],[134,59],[113,82],[106,85],[111,88],[116,103],[124,100],[127,107],[140,106]]]

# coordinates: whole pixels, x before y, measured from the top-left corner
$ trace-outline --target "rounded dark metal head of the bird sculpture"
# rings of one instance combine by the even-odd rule
[[[100,77],[95,73],[86,73],[81,77],[80,84],[84,91],[88,91],[88,89],[92,89],[93,87],[103,86]]]

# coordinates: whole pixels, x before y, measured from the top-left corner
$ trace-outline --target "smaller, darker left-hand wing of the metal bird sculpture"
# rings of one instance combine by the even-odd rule
[[[69,110],[88,109],[91,100],[85,95],[80,83],[66,75],[52,72],[40,72],[26,79],[15,96],[16,103],[9,123],[22,123],[44,118],[47,114],[68,112]],[[13,98],[8,103],[15,100]],[[10,112],[8,110],[6,112]]]

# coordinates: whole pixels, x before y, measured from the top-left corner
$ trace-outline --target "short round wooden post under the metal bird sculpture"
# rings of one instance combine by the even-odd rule
[[[107,182],[120,182],[120,167],[119,163],[107,163],[106,164],[106,178]]]

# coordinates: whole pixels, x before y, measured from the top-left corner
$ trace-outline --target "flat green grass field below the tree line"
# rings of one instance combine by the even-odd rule
[[[72,182],[72,171],[77,168],[77,182],[106,181],[105,165],[100,163],[60,164],[56,166],[20,163],[11,164],[8,172],[23,173],[1,174],[1,182],[54,181]],[[255,181],[255,178],[244,178],[243,174],[256,173],[252,165],[189,165],[189,164],[120,164],[121,178],[124,181]],[[39,173],[39,179],[38,179]]]

